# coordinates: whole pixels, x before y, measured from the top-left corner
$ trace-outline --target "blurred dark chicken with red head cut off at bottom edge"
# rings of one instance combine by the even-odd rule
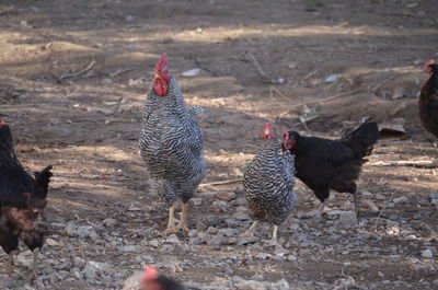
[[[159,275],[154,266],[147,266],[141,277],[141,290],[185,290],[180,282],[164,276]]]

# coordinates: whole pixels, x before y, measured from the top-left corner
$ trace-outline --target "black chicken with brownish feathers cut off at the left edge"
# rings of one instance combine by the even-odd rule
[[[5,121],[0,120],[0,245],[13,264],[19,240],[34,253],[34,274],[47,227],[46,206],[50,166],[28,175],[13,149],[13,138]]]

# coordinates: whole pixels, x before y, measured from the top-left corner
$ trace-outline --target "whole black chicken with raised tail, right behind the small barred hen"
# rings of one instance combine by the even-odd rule
[[[323,213],[330,189],[354,195],[358,214],[356,179],[362,164],[368,161],[365,156],[371,153],[378,139],[378,126],[369,119],[337,140],[284,131],[283,150],[295,154],[296,176],[320,199],[319,217]]]

